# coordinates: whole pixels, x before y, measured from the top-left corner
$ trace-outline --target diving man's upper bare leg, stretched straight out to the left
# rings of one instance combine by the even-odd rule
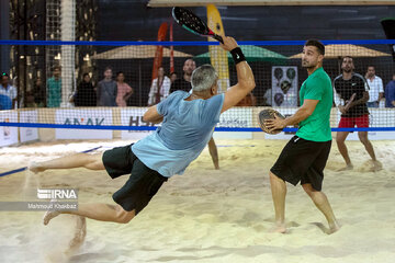
[[[54,160],[44,162],[32,162],[29,170],[32,172],[43,172],[48,169],[70,169],[70,168],[87,168],[90,170],[104,170],[103,153],[88,155],[76,153],[71,156],[56,158]]]

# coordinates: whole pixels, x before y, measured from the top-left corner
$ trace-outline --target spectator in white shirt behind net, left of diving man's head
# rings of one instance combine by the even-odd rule
[[[158,78],[153,81],[148,94],[148,106],[156,105],[169,95],[171,81],[165,76],[163,67],[158,69]]]

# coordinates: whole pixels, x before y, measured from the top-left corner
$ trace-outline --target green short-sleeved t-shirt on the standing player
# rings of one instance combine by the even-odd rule
[[[319,102],[313,114],[300,123],[296,136],[312,141],[331,140],[329,119],[334,90],[330,78],[323,68],[316,69],[303,82],[300,98],[301,105],[303,105],[304,100],[318,100]]]

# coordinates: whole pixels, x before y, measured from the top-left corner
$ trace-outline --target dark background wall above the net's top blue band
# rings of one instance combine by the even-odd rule
[[[169,8],[147,8],[147,1],[99,0],[99,39],[155,41]],[[204,7],[191,8],[205,18]],[[225,32],[238,41],[376,39],[385,38],[381,19],[395,5],[364,7],[218,7]],[[174,27],[174,41],[200,41]]]

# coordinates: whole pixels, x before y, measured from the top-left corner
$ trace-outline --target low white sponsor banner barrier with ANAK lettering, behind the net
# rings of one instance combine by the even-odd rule
[[[264,107],[234,107],[223,113],[219,117],[217,127],[259,127],[258,113]],[[297,107],[274,107],[284,116],[292,115]],[[124,107],[124,108],[72,108],[72,110],[24,110],[24,111],[1,111],[1,122],[20,122],[20,123],[35,123],[42,121],[41,117],[48,118],[48,114],[53,116],[56,124],[66,125],[123,125],[123,126],[157,126],[150,123],[143,122],[143,115],[147,107]],[[370,111],[370,126],[371,127],[395,127],[395,111],[390,108],[369,108]],[[19,114],[19,117],[18,117]],[[43,116],[41,116],[43,115]],[[331,112],[331,126],[338,126],[340,121],[340,113],[337,108]],[[115,133],[114,130],[98,130],[98,129],[52,129],[54,139],[112,139],[120,136],[122,139],[139,140],[153,132],[149,130],[122,130]],[[19,142],[19,135],[21,142],[37,140],[38,128],[20,128],[18,127],[0,127],[0,147],[9,146]],[[251,132],[216,132],[214,138],[219,139],[285,139],[289,140],[294,133],[280,133],[278,135],[267,135],[263,133]],[[336,133],[332,133],[336,137]],[[371,140],[394,140],[395,132],[369,132]],[[44,139],[44,138],[40,138]],[[358,140],[358,133],[350,133],[348,140]],[[45,139],[44,139],[45,140]]]

